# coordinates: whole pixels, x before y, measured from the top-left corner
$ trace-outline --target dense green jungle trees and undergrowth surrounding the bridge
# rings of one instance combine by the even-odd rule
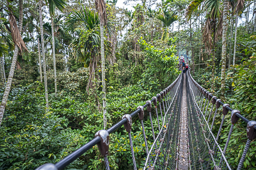
[[[170,85],[180,74],[180,55],[200,85],[256,120],[255,0],[107,0],[105,12],[97,2],[105,4],[0,2],[0,170],[33,170],[60,161],[93,139],[105,120],[108,129]],[[157,129],[155,111],[152,118]],[[145,143],[139,119],[133,122],[141,170]],[[230,126],[228,117],[221,147]],[[145,133],[153,141],[150,126]],[[246,141],[246,123],[240,120],[226,152],[233,169]],[[124,128],[110,134],[109,146],[111,170],[133,170]],[[242,169],[256,170],[255,146],[254,140]],[[66,169],[102,170],[104,159],[94,146]]]

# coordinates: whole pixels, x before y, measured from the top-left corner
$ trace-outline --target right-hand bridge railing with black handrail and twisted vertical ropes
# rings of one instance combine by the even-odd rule
[[[247,142],[245,144],[244,151],[242,153],[241,159],[239,161],[239,165],[237,167],[237,170],[241,170],[241,168],[243,167],[243,163],[244,163],[247,151],[249,150],[250,143],[251,143],[252,140],[254,140],[256,138],[256,121],[248,120],[247,118],[245,118],[244,116],[241,115],[240,111],[233,110],[232,108],[230,108],[229,104],[223,103],[221,101],[221,99],[218,99],[212,93],[210,93],[209,91],[204,89],[201,85],[199,85],[193,79],[193,77],[191,76],[190,73],[188,73],[188,77],[193,82],[192,91],[195,95],[195,101],[198,105],[198,108],[200,110],[203,108],[202,113],[204,114],[203,117],[205,119],[207,119],[207,117],[208,117],[207,123],[209,123],[209,119],[211,119],[211,114],[212,114],[212,111],[213,111],[213,107],[215,105],[215,113],[214,113],[214,116],[213,116],[213,119],[212,119],[210,130],[212,130],[212,127],[214,125],[217,110],[222,105],[222,115],[223,116],[222,116],[222,119],[221,119],[221,125],[219,127],[217,136],[215,138],[216,142],[218,142],[218,138],[220,136],[222,126],[224,124],[224,120],[227,118],[226,115],[229,113],[229,111],[231,112],[230,121],[231,121],[232,125],[230,126],[230,130],[229,130],[228,137],[227,137],[227,142],[225,143],[225,146],[224,146],[223,150],[221,150],[221,154],[225,155],[225,153],[227,151],[227,147],[228,147],[229,142],[230,142],[230,138],[231,138],[231,134],[233,132],[234,125],[239,121],[239,119],[241,119],[241,121],[247,123],[247,128],[246,128]],[[203,102],[204,102],[204,104],[203,104]],[[209,108],[209,110],[208,110],[209,103],[212,104],[212,108]],[[209,114],[207,114],[207,111],[209,111]],[[222,163],[222,161],[223,161],[223,159],[220,160],[220,164]]]

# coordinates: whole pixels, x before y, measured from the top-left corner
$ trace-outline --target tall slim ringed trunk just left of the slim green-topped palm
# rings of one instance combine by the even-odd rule
[[[39,0],[39,18],[40,18],[40,34],[41,34],[41,45],[42,45],[42,57],[43,57],[43,67],[44,67],[44,89],[45,89],[45,102],[48,111],[48,88],[47,88],[47,74],[46,74],[46,62],[45,62],[45,49],[44,49],[44,32],[43,32],[43,19],[42,19],[42,3]]]

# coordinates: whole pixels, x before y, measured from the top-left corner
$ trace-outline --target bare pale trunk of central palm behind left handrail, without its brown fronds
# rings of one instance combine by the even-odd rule
[[[107,127],[106,117],[106,83],[105,83],[105,51],[104,51],[104,27],[100,24],[100,47],[101,47],[101,58],[102,58],[102,100],[103,100],[103,127]]]

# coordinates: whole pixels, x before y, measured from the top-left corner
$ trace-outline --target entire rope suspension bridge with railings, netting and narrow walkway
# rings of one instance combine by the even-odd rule
[[[212,133],[218,108],[222,106],[221,124],[217,135]],[[215,108],[215,111],[214,111]],[[144,110],[148,117],[144,116]],[[155,110],[157,128],[154,128],[151,111]],[[160,112],[160,113],[159,113]],[[191,76],[180,74],[177,79],[165,88],[160,94],[148,100],[145,105],[139,106],[131,114],[122,116],[122,120],[108,130],[99,130],[95,138],[55,164],[44,164],[37,170],[63,170],[74,160],[86,153],[97,144],[105,160],[105,169],[110,170],[108,162],[109,134],[118,128],[125,128],[131,147],[131,158],[134,170],[137,170],[134,157],[133,140],[131,137],[132,119],[138,116],[142,127],[145,142],[145,159],[143,170],[232,170],[225,153],[229,147],[233,128],[238,121],[247,123],[244,133],[247,135],[239,165],[241,170],[250,143],[256,138],[256,121],[250,121],[241,115],[240,111],[233,110],[229,104],[224,104],[209,91],[199,85]],[[144,125],[143,120],[150,119],[150,125]],[[227,142],[224,147],[218,144],[223,130],[225,119],[229,119],[230,126]],[[148,141],[145,126],[151,127],[153,140]],[[151,145],[148,145],[148,144]]]

